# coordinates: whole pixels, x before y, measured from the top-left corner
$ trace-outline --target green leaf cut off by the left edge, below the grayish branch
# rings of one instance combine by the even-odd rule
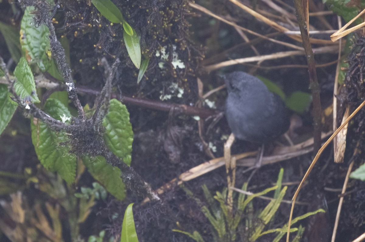
[[[10,100],[8,86],[0,84],[0,135],[13,117],[16,107]]]

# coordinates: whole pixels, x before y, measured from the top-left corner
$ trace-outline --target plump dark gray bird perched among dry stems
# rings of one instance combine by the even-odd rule
[[[228,91],[226,118],[234,136],[264,144],[289,128],[283,100],[258,78],[242,71],[223,76]]]

